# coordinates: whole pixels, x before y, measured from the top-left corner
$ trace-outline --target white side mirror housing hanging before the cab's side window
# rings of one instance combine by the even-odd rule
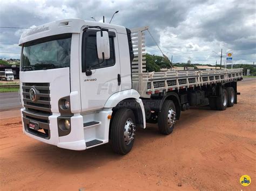
[[[97,52],[99,60],[110,58],[109,33],[107,31],[98,31],[96,33]]]

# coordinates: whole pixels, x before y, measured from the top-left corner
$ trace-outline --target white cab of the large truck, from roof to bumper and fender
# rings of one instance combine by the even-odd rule
[[[130,117],[127,135],[134,135],[135,125],[145,127],[142,100],[132,89],[130,33],[123,26],[81,19],[24,32],[19,40],[23,132],[71,150],[105,144],[114,108],[125,100],[142,116]]]

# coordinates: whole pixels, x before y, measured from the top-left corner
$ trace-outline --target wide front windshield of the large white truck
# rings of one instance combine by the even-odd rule
[[[60,34],[25,43],[22,71],[70,67],[71,35]]]

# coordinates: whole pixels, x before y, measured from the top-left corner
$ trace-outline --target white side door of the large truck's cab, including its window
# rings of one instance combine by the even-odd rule
[[[110,59],[98,59],[96,32],[98,30],[86,30],[83,32],[82,70],[80,72],[80,92],[82,111],[100,109],[104,107],[107,99],[121,90],[120,61],[118,51],[117,33],[109,29]],[[86,75],[86,70],[91,69],[92,74]]]

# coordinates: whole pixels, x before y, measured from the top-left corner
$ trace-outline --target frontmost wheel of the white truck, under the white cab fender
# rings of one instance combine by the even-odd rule
[[[127,154],[131,151],[135,138],[135,123],[135,117],[131,109],[119,109],[116,111],[111,121],[110,131],[114,152]],[[128,133],[131,133],[131,136]]]

